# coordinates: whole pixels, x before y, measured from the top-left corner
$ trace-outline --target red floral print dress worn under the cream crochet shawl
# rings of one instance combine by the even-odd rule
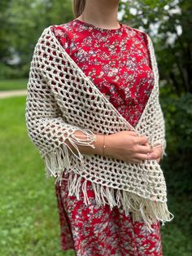
[[[154,86],[146,34],[121,24],[101,29],[81,20],[54,25],[55,37],[87,77],[132,126],[137,125]],[[160,224],[148,232],[143,222],[109,205],[98,206],[91,183],[89,205],[68,195],[66,174],[55,184],[59,206],[61,245],[77,256],[162,255]],[[82,179],[82,182],[84,179]]]

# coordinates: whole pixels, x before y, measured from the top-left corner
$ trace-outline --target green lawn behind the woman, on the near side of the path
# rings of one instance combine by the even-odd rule
[[[62,256],[54,182],[28,138],[25,96],[0,99],[0,108],[0,255]],[[191,256],[191,203],[171,196],[169,206],[175,220],[162,227],[164,256]]]

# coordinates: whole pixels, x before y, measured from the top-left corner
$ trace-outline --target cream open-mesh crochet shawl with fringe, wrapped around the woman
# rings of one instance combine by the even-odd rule
[[[52,26],[41,33],[34,49],[25,117],[28,135],[45,162],[47,176],[61,182],[64,170],[68,174],[69,195],[79,198],[82,189],[86,205],[86,182],[91,181],[98,205],[108,204],[111,209],[122,205],[126,215],[132,213],[133,220],[143,220],[151,229],[151,223],[159,220],[164,225],[173,218],[167,207],[163,170],[157,161],[133,164],[97,154],[81,154],[77,148],[78,144],[94,147],[98,133],[134,130],[137,135],[146,135],[152,146],[162,144],[162,157],[167,155],[164,116],[159,104],[159,73],[151,39],[147,38],[155,86],[135,128],[64,51]],[[87,139],[77,138],[76,130],[83,131]],[[65,139],[76,148],[77,155]]]

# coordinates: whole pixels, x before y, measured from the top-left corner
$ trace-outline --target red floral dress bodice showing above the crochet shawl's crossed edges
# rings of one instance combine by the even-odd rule
[[[55,36],[111,104],[136,126],[154,86],[145,33],[126,24],[109,30],[72,20],[55,26]]]

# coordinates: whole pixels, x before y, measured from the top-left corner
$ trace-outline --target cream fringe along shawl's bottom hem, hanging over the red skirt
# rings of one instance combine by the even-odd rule
[[[78,176],[78,179],[77,179]],[[76,196],[79,199],[80,187],[82,188],[84,203],[89,205],[89,196],[87,195],[87,180],[81,182],[82,177],[71,172],[68,177],[68,191],[70,196]],[[76,185],[75,185],[76,183]],[[151,232],[152,224],[160,221],[162,225],[174,218],[168,211],[166,202],[151,201],[150,199],[137,196],[132,192],[114,190],[114,188],[103,187],[98,183],[91,182],[94,191],[94,200],[96,205],[109,205],[110,209],[114,206],[124,210],[128,216],[132,214],[133,222],[139,221],[146,223],[146,228]]]

